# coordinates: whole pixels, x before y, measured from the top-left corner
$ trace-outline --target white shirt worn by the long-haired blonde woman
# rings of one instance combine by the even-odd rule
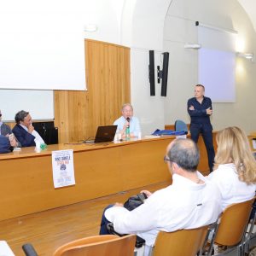
[[[247,185],[241,182],[234,164],[219,165],[208,178],[216,183],[220,190],[223,210],[230,204],[248,201],[255,195],[256,184]]]

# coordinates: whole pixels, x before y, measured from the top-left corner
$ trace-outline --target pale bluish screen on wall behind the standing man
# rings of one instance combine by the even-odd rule
[[[198,28],[198,80],[212,102],[236,102],[236,33]]]

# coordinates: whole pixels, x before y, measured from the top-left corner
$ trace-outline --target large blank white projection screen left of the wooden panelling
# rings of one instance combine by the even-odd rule
[[[85,90],[83,1],[4,1],[0,88]]]

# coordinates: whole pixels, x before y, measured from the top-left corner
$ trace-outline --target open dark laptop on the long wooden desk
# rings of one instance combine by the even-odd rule
[[[94,140],[86,140],[84,143],[108,143],[112,142],[117,125],[98,126]]]

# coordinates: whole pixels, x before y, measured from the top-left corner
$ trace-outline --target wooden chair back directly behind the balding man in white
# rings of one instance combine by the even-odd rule
[[[201,251],[207,238],[208,226],[193,230],[160,231],[153,249],[154,256],[195,256]]]

